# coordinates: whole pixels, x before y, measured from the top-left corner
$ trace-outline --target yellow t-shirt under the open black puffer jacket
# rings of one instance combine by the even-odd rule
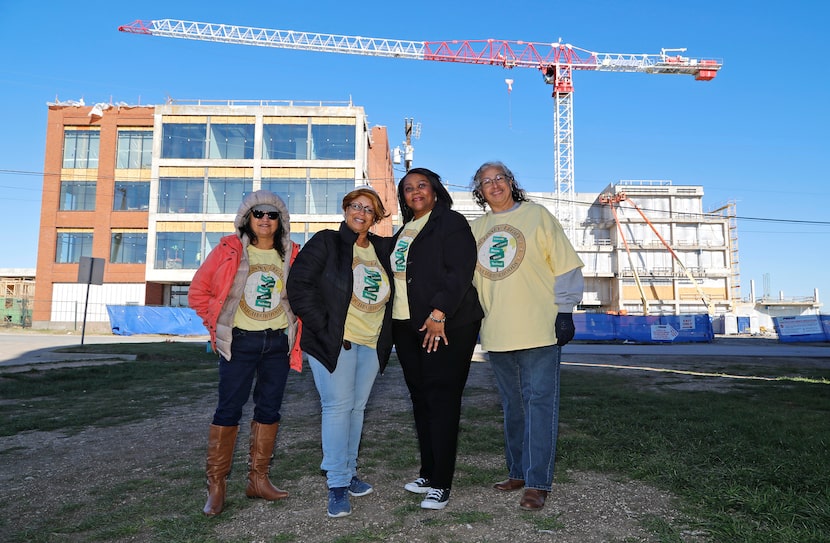
[[[375,349],[392,287],[371,243],[365,248],[355,244],[352,254],[354,283],[344,339]]]

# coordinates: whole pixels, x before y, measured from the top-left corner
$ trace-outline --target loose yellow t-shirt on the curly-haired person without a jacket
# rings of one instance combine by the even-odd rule
[[[473,284],[484,308],[481,346],[514,351],[556,343],[556,276],[583,266],[559,221],[539,204],[488,212],[470,227],[478,257]]]

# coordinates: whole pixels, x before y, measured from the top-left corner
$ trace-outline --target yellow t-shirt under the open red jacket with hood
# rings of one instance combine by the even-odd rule
[[[280,297],[284,262],[274,249],[257,249],[248,245],[248,279],[233,325],[243,330],[279,330],[288,326]]]

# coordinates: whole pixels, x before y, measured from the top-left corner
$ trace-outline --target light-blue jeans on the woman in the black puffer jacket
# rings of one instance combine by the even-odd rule
[[[308,357],[322,407],[323,462],[329,488],[349,486],[357,475],[357,452],[363,433],[363,412],[380,364],[375,349],[352,343],[340,348],[337,367],[329,373],[313,356]]]

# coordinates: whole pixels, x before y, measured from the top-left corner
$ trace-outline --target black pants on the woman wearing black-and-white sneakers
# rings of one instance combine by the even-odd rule
[[[461,395],[470,373],[480,322],[447,332],[449,345],[427,353],[421,347],[423,333],[412,330],[407,321],[394,321],[395,351],[403,369],[418,447],[421,452],[420,477],[433,488],[451,488],[458,449]]]

